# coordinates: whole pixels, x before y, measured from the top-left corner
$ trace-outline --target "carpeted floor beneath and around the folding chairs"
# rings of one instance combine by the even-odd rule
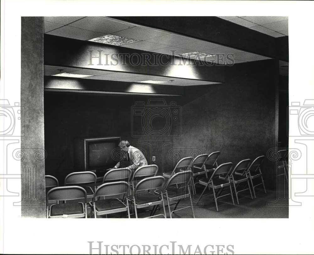
[[[198,186],[198,185],[197,185]],[[199,195],[202,193],[202,187],[197,187],[197,195],[193,197],[193,208],[196,218],[288,218],[289,210],[288,206],[284,206],[287,203],[286,199],[278,199],[279,192],[273,190],[267,190],[267,193],[264,193],[264,190],[256,188],[256,199],[251,199],[248,191],[241,192],[239,195],[239,205],[236,202],[236,196],[234,195],[235,206],[232,204],[225,204],[223,202],[218,202],[218,209],[216,211],[215,202],[213,200],[213,193],[205,195],[201,199],[201,203],[197,204]],[[208,192],[208,191],[207,191]],[[209,193],[209,192],[208,192]],[[277,194],[278,193],[278,194]],[[206,194],[206,193],[205,193]],[[285,195],[287,197],[287,192],[280,192],[279,195]],[[253,196],[254,198],[254,196]],[[228,201],[232,203],[231,196],[225,196],[221,200]],[[273,203],[271,203],[273,202]],[[271,205],[268,205],[271,203]],[[177,209],[180,207],[185,207],[190,205],[189,200],[181,200]],[[174,206],[171,206],[173,208]],[[148,217],[150,215],[151,209],[147,207],[145,210],[138,210],[138,218]],[[165,206],[166,216],[169,217],[169,210],[166,204]],[[90,209],[88,209],[89,216]],[[132,212],[132,210],[131,210]],[[156,215],[163,213],[163,209],[157,210]],[[111,215],[110,217],[126,217],[126,213]],[[94,217],[94,216],[92,216]],[[106,216],[99,216],[100,218],[106,218]],[[109,216],[108,216],[109,217]],[[190,208],[183,209],[181,211],[175,212],[172,214],[172,218],[192,218],[192,210]],[[135,218],[135,215],[131,215],[131,218]],[[158,216],[160,218],[160,216]]]

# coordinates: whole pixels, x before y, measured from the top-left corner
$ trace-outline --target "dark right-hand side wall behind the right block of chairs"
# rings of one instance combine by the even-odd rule
[[[183,134],[177,145],[210,153],[221,151],[219,164],[265,155],[263,173],[274,186],[275,92],[278,63],[263,60],[227,67],[225,84],[189,87],[183,98]]]

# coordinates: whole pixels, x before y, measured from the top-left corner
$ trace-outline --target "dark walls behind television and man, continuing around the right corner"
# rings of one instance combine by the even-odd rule
[[[278,64],[278,63],[277,63]],[[63,183],[75,170],[75,138],[121,136],[143,148],[147,159],[156,156],[160,172],[171,170],[179,157],[221,151],[219,163],[265,155],[275,142],[275,87],[278,65],[274,60],[237,64],[226,68],[225,84],[185,88],[185,96],[164,98],[176,102],[182,123],[172,122],[171,134],[159,137],[131,136],[131,108],[148,96],[93,96],[46,92],[46,174]],[[170,110],[174,108],[169,108]],[[154,125],[164,119],[155,118]],[[136,128],[141,129],[141,125]],[[172,135],[180,135],[175,137]],[[265,182],[274,185],[273,163],[263,165]]]

